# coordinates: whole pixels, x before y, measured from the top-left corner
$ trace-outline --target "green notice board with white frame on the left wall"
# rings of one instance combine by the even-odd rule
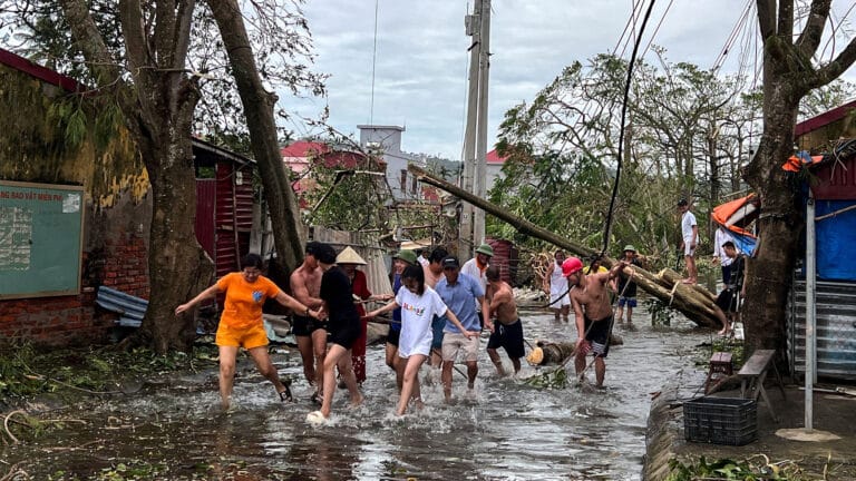
[[[0,300],[78,294],[84,188],[0,180]]]

